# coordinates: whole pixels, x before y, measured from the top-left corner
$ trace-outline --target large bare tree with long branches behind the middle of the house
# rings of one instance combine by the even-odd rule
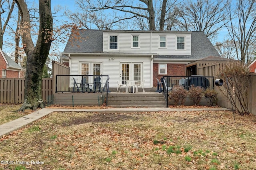
[[[91,25],[96,25],[98,29],[120,28],[120,23],[125,22],[123,29],[129,29],[126,26],[130,25],[134,29],[164,30],[166,22],[172,19],[167,16],[172,13],[176,2],[177,0],[77,0],[82,13],[72,13],[70,18],[86,29],[91,28]]]

